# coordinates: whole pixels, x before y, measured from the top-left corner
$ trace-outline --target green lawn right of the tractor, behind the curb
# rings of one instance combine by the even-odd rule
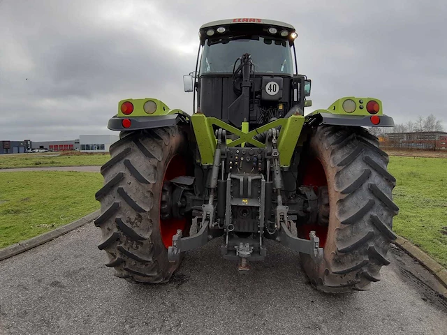
[[[390,158],[400,207],[393,229],[447,267],[447,158]]]

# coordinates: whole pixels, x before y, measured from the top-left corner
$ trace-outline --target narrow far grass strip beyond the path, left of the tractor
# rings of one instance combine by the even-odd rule
[[[51,156],[54,155],[54,156]],[[0,155],[0,169],[7,168],[39,168],[46,166],[81,166],[103,165],[110,159],[109,154],[89,155],[61,155],[46,154],[22,154]]]

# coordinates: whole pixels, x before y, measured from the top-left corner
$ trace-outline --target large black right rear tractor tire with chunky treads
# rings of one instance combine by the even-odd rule
[[[315,262],[301,254],[302,267],[317,290],[368,290],[380,280],[381,267],[390,263],[386,254],[396,238],[392,226],[399,208],[392,200],[396,180],[387,171],[388,155],[366,129],[344,126],[319,126],[307,155],[303,161],[316,158],[321,163],[330,209],[327,234],[321,238],[324,258]],[[298,228],[302,237],[308,232]]]

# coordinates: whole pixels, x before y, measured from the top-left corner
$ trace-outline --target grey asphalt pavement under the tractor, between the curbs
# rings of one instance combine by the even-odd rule
[[[447,334],[446,301],[399,251],[372,290],[332,296],[272,241],[250,274],[214,240],[189,252],[171,283],[150,286],[112,276],[99,239],[89,223],[1,261],[0,334]]]

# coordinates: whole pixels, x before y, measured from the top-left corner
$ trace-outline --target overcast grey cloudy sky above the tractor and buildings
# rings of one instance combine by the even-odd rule
[[[191,113],[198,28],[233,17],[297,29],[308,111],[372,96],[398,123],[432,113],[447,128],[445,0],[0,0],[0,140],[109,133],[124,98]]]

